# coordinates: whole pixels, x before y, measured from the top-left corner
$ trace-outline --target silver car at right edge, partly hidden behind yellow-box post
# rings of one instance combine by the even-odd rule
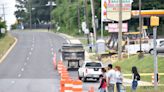
[[[162,42],[160,45],[157,45],[156,49],[157,49],[157,54],[158,53],[164,53],[164,42]],[[144,52],[145,53],[150,53],[151,55],[153,55],[154,54],[154,48],[153,47],[146,48],[144,50]]]

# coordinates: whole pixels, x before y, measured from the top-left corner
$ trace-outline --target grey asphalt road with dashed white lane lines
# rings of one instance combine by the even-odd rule
[[[0,63],[0,92],[59,92],[60,76],[53,66],[53,54],[61,61],[58,50],[67,40],[49,32],[11,31],[17,44]],[[73,79],[77,70],[69,71]],[[83,83],[83,91],[99,82]]]

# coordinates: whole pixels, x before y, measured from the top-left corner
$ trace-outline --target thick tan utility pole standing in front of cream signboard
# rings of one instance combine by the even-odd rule
[[[122,0],[119,0],[119,33],[118,33],[118,60],[122,54]]]

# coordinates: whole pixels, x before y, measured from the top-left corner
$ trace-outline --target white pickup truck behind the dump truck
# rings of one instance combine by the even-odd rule
[[[93,78],[99,80],[99,76],[102,74],[101,68],[103,65],[100,61],[84,61],[82,66],[78,69],[78,77],[86,82],[87,78]]]

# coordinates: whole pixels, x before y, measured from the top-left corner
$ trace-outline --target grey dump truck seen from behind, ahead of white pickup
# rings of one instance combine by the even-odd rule
[[[59,52],[66,68],[79,68],[85,60],[85,50],[82,44],[64,43]]]

